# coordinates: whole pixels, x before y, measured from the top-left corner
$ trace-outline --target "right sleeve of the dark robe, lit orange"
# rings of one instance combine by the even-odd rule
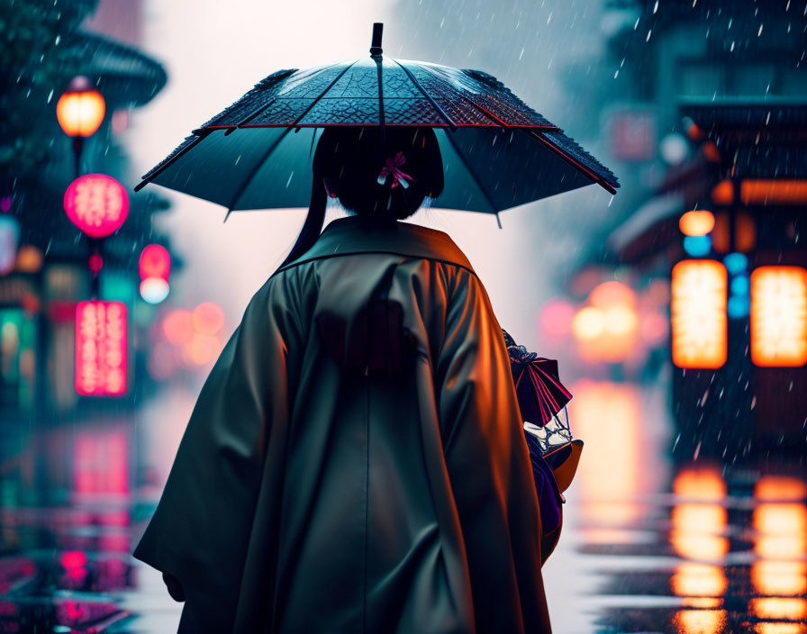
[[[450,290],[436,383],[476,627],[549,631],[538,499],[510,358],[485,288],[467,271]]]

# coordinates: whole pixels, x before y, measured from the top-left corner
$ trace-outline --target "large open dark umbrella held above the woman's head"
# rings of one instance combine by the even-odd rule
[[[147,183],[236,210],[307,207],[324,127],[430,126],[445,188],[432,206],[482,213],[597,183],[612,172],[481,70],[391,59],[374,24],[370,56],[269,75],[204,123]]]

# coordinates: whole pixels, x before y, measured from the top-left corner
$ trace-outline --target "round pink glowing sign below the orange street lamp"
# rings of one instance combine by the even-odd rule
[[[91,238],[118,231],[129,215],[126,189],[105,174],[78,177],[68,186],[64,204],[70,222]]]

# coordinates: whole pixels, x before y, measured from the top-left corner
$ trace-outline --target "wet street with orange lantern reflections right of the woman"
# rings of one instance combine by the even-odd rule
[[[668,458],[662,393],[578,382],[585,439],[544,571],[561,632],[807,632],[807,484],[797,466]]]

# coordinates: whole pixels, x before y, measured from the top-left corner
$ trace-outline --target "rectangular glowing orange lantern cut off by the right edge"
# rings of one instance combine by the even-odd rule
[[[751,361],[762,367],[807,363],[807,270],[759,267],[751,273]]]

